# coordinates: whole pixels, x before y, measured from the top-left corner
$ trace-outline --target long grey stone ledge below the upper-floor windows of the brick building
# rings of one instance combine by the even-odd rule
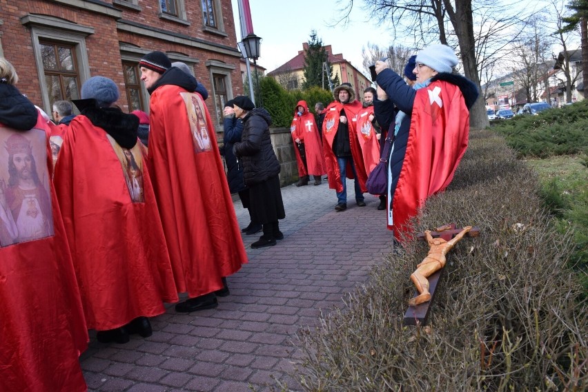
[[[228,56],[241,57],[241,52],[239,52],[237,48],[231,48],[227,45],[204,41],[202,39],[190,37],[186,34],[179,34],[159,28],[153,28],[148,25],[128,21],[126,19],[119,19],[117,21],[117,30],[128,32],[130,34],[138,34],[145,37],[161,39],[162,41],[179,43],[181,45],[190,46],[192,48],[210,50],[211,52],[227,54]]]

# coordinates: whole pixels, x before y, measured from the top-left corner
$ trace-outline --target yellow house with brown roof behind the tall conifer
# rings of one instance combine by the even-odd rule
[[[351,83],[355,89],[357,99],[362,99],[363,92],[366,87],[371,86],[371,81],[355,68],[349,61],[344,59],[343,54],[333,54],[331,45],[325,45],[324,49],[327,53],[328,63],[333,66],[333,76],[338,75],[341,83]],[[301,89],[304,83],[304,57],[308,50],[308,43],[302,43],[302,50],[292,59],[280,65],[275,70],[268,72],[268,76],[273,77],[278,83],[288,90]],[[336,86],[333,86],[336,87]],[[324,86],[329,90],[329,81],[325,74]]]

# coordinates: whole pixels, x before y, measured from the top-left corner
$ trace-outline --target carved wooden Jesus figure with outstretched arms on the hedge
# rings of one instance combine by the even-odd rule
[[[429,254],[427,257],[417,265],[417,269],[411,275],[419,295],[409,300],[409,305],[419,305],[422,302],[431,300],[431,293],[429,293],[429,280],[427,278],[439,271],[445,266],[445,255],[449,253],[453,245],[457,243],[462,237],[471,230],[471,226],[466,226],[460,233],[455,235],[451,240],[447,241],[443,238],[433,238],[431,231],[427,230],[424,234],[427,236],[427,243],[429,243]]]

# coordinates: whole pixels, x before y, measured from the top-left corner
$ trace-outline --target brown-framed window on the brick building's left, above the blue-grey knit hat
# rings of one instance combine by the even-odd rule
[[[74,45],[39,42],[49,105],[79,99],[79,75]]]

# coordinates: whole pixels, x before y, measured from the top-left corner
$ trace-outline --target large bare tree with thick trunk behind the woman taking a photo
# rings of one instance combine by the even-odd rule
[[[440,41],[459,48],[463,72],[480,90],[480,71],[503,56],[507,44],[518,37],[518,33],[513,34],[512,30],[520,20],[520,15],[490,1],[481,0],[477,8],[473,8],[472,0],[362,1],[371,11],[372,20],[391,25],[394,36],[400,32],[404,37],[415,37],[415,47]],[[339,2],[346,3],[342,8],[342,19],[346,20],[354,1]],[[476,26],[480,26],[480,23],[483,26],[476,31],[473,30],[474,17]],[[470,122],[476,128],[488,125],[482,99],[472,108]]]

